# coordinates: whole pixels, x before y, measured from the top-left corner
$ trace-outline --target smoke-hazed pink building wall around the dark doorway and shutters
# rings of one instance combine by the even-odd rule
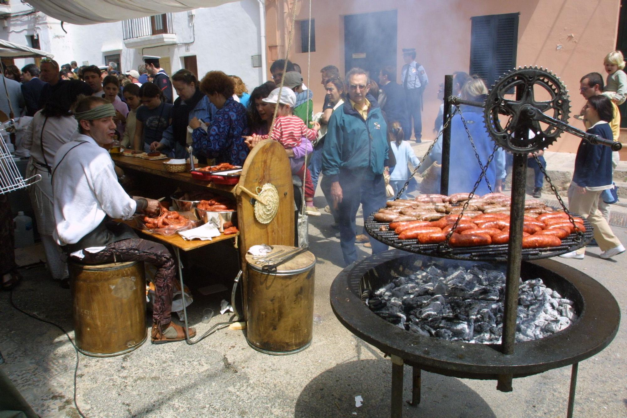
[[[285,56],[292,16],[287,4],[291,6],[292,2],[267,3],[268,68],[274,59]],[[299,1],[298,8],[297,19],[307,19],[308,1]],[[320,68],[333,64],[342,74],[347,70],[344,68],[344,16],[397,9],[398,78],[403,66],[401,48],[416,48],[416,60],[429,76],[424,92],[423,138],[433,139],[435,134],[431,129],[440,105],[436,98],[438,85],[446,74],[468,71],[472,16],[520,13],[517,65],[537,65],[561,77],[571,96],[572,115],[578,114],[584,104],[579,94],[582,75],[596,71],[606,76],[603,58],[616,45],[619,8],[620,0],[312,0],[316,51],[311,53],[310,78],[307,78],[307,53],[296,52],[299,33],[294,35],[290,59],[302,67],[305,83],[314,92],[314,110],[320,111],[325,94],[320,84]],[[280,22],[279,29],[277,22]],[[581,122],[572,117],[569,122],[582,127]],[[550,151],[574,153],[578,144],[575,137],[563,135]]]

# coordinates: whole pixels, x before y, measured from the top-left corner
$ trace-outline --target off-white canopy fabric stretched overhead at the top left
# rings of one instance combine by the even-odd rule
[[[28,0],[28,3],[67,23],[94,24],[211,8],[233,1],[236,0]]]

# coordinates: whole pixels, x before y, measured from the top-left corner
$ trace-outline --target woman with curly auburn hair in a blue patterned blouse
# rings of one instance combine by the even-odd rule
[[[248,117],[246,108],[233,99],[233,79],[224,72],[210,71],[201,80],[200,89],[218,111],[208,131],[190,123],[194,149],[207,158],[215,158],[218,164],[241,166],[248,156],[243,138],[248,135]]]

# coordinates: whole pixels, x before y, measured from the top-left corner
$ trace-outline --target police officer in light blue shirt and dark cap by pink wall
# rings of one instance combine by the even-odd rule
[[[409,115],[409,127],[414,121],[414,136],[416,142],[421,142],[423,122],[421,110],[423,107],[423,92],[429,82],[424,67],[416,62],[416,48],[403,48],[403,70],[401,70],[401,81],[405,90],[405,100],[407,102],[407,112]],[[407,129],[405,139],[411,137],[411,129]]]

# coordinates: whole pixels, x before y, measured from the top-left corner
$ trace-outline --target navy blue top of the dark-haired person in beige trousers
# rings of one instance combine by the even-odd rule
[[[586,132],[613,140],[609,124],[598,124]],[[612,184],[612,150],[604,145],[593,145],[581,140],[575,157],[572,181],[582,187],[609,186]]]

